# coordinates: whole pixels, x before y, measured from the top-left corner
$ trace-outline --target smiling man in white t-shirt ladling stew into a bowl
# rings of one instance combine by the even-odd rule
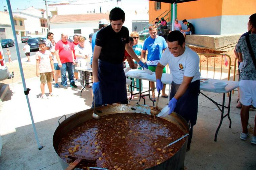
[[[180,114],[187,122],[190,121],[191,129],[187,143],[190,149],[193,126],[197,121],[198,95],[200,92],[199,57],[197,53],[185,46],[185,38],[180,31],[172,31],[167,37],[168,49],[156,67],[156,87],[161,90],[163,84],[161,77],[163,68],[169,64],[173,77],[170,94],[169,114],[173,111]],[[171,78],[171,77],[170,77]]]

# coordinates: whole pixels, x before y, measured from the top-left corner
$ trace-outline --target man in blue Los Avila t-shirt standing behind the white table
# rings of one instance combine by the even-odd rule
[[[167,48],[167,43],[163,37],[157,35],[157,27],[156,26],[149,27],[149,35],[150,35],[150,37],[148,37],[144,41],[141,57],[144,61],[145,57],[146,57],[146,51],[148,50],[148,55],[147,55],[147,63],[149,65],[148,69],[151,71],[155,71],[157,63],[155,65],[150,65],[149,61],[159,61],[162,57],[163,50],[165,50]],[[164,68],[163,72],[166,73],[165,68]],[[154,81],[150,81],[150,88],[151,89],[155,88]],[[168,95],[165,94],[165,85],[163,86],[163,89],[162,89],[162,97],[168,98]],[[155,90],[152,90],[152,98],[151,99],[153,101],[156,101]]]

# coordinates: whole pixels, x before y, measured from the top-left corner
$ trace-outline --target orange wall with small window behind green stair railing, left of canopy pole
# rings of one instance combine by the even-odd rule
[[[161,9],[160,10],[155,10],[154,7],[154,1],[149,1],[149,22],[154,21],[152,23],[155,23],[155,19],[161,15],[164,11],[164,14],[162,14],[159,18],[159,20],[161,19],[161,17],[163,17],[168,11],[171,10],[171,4],[169,3],[163,3],[161,2]],[[171,20],[171,12],[168,14],[169,15],[169,19]],[[167,20],[167,17],[164,18],[165,20]]]

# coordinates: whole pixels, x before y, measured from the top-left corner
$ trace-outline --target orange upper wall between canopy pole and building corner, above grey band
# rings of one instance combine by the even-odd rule
[[[199,0],[177,4],[177,18],[198,19],[222,15],[223,0]]]

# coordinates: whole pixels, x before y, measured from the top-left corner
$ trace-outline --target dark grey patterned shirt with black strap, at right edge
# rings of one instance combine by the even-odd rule
[[[249,40],[254,56],[251,56],[245,38],[246,36],[241,37],[238,40],[235,49],[237,53],[242,53],[243,58],[243,62],[241,63],[242,67],[240,69],[240,80],[256,80],[256,70],[252,61],[252,57],[255,58],[256,56],[256,34],[249,34]]]

